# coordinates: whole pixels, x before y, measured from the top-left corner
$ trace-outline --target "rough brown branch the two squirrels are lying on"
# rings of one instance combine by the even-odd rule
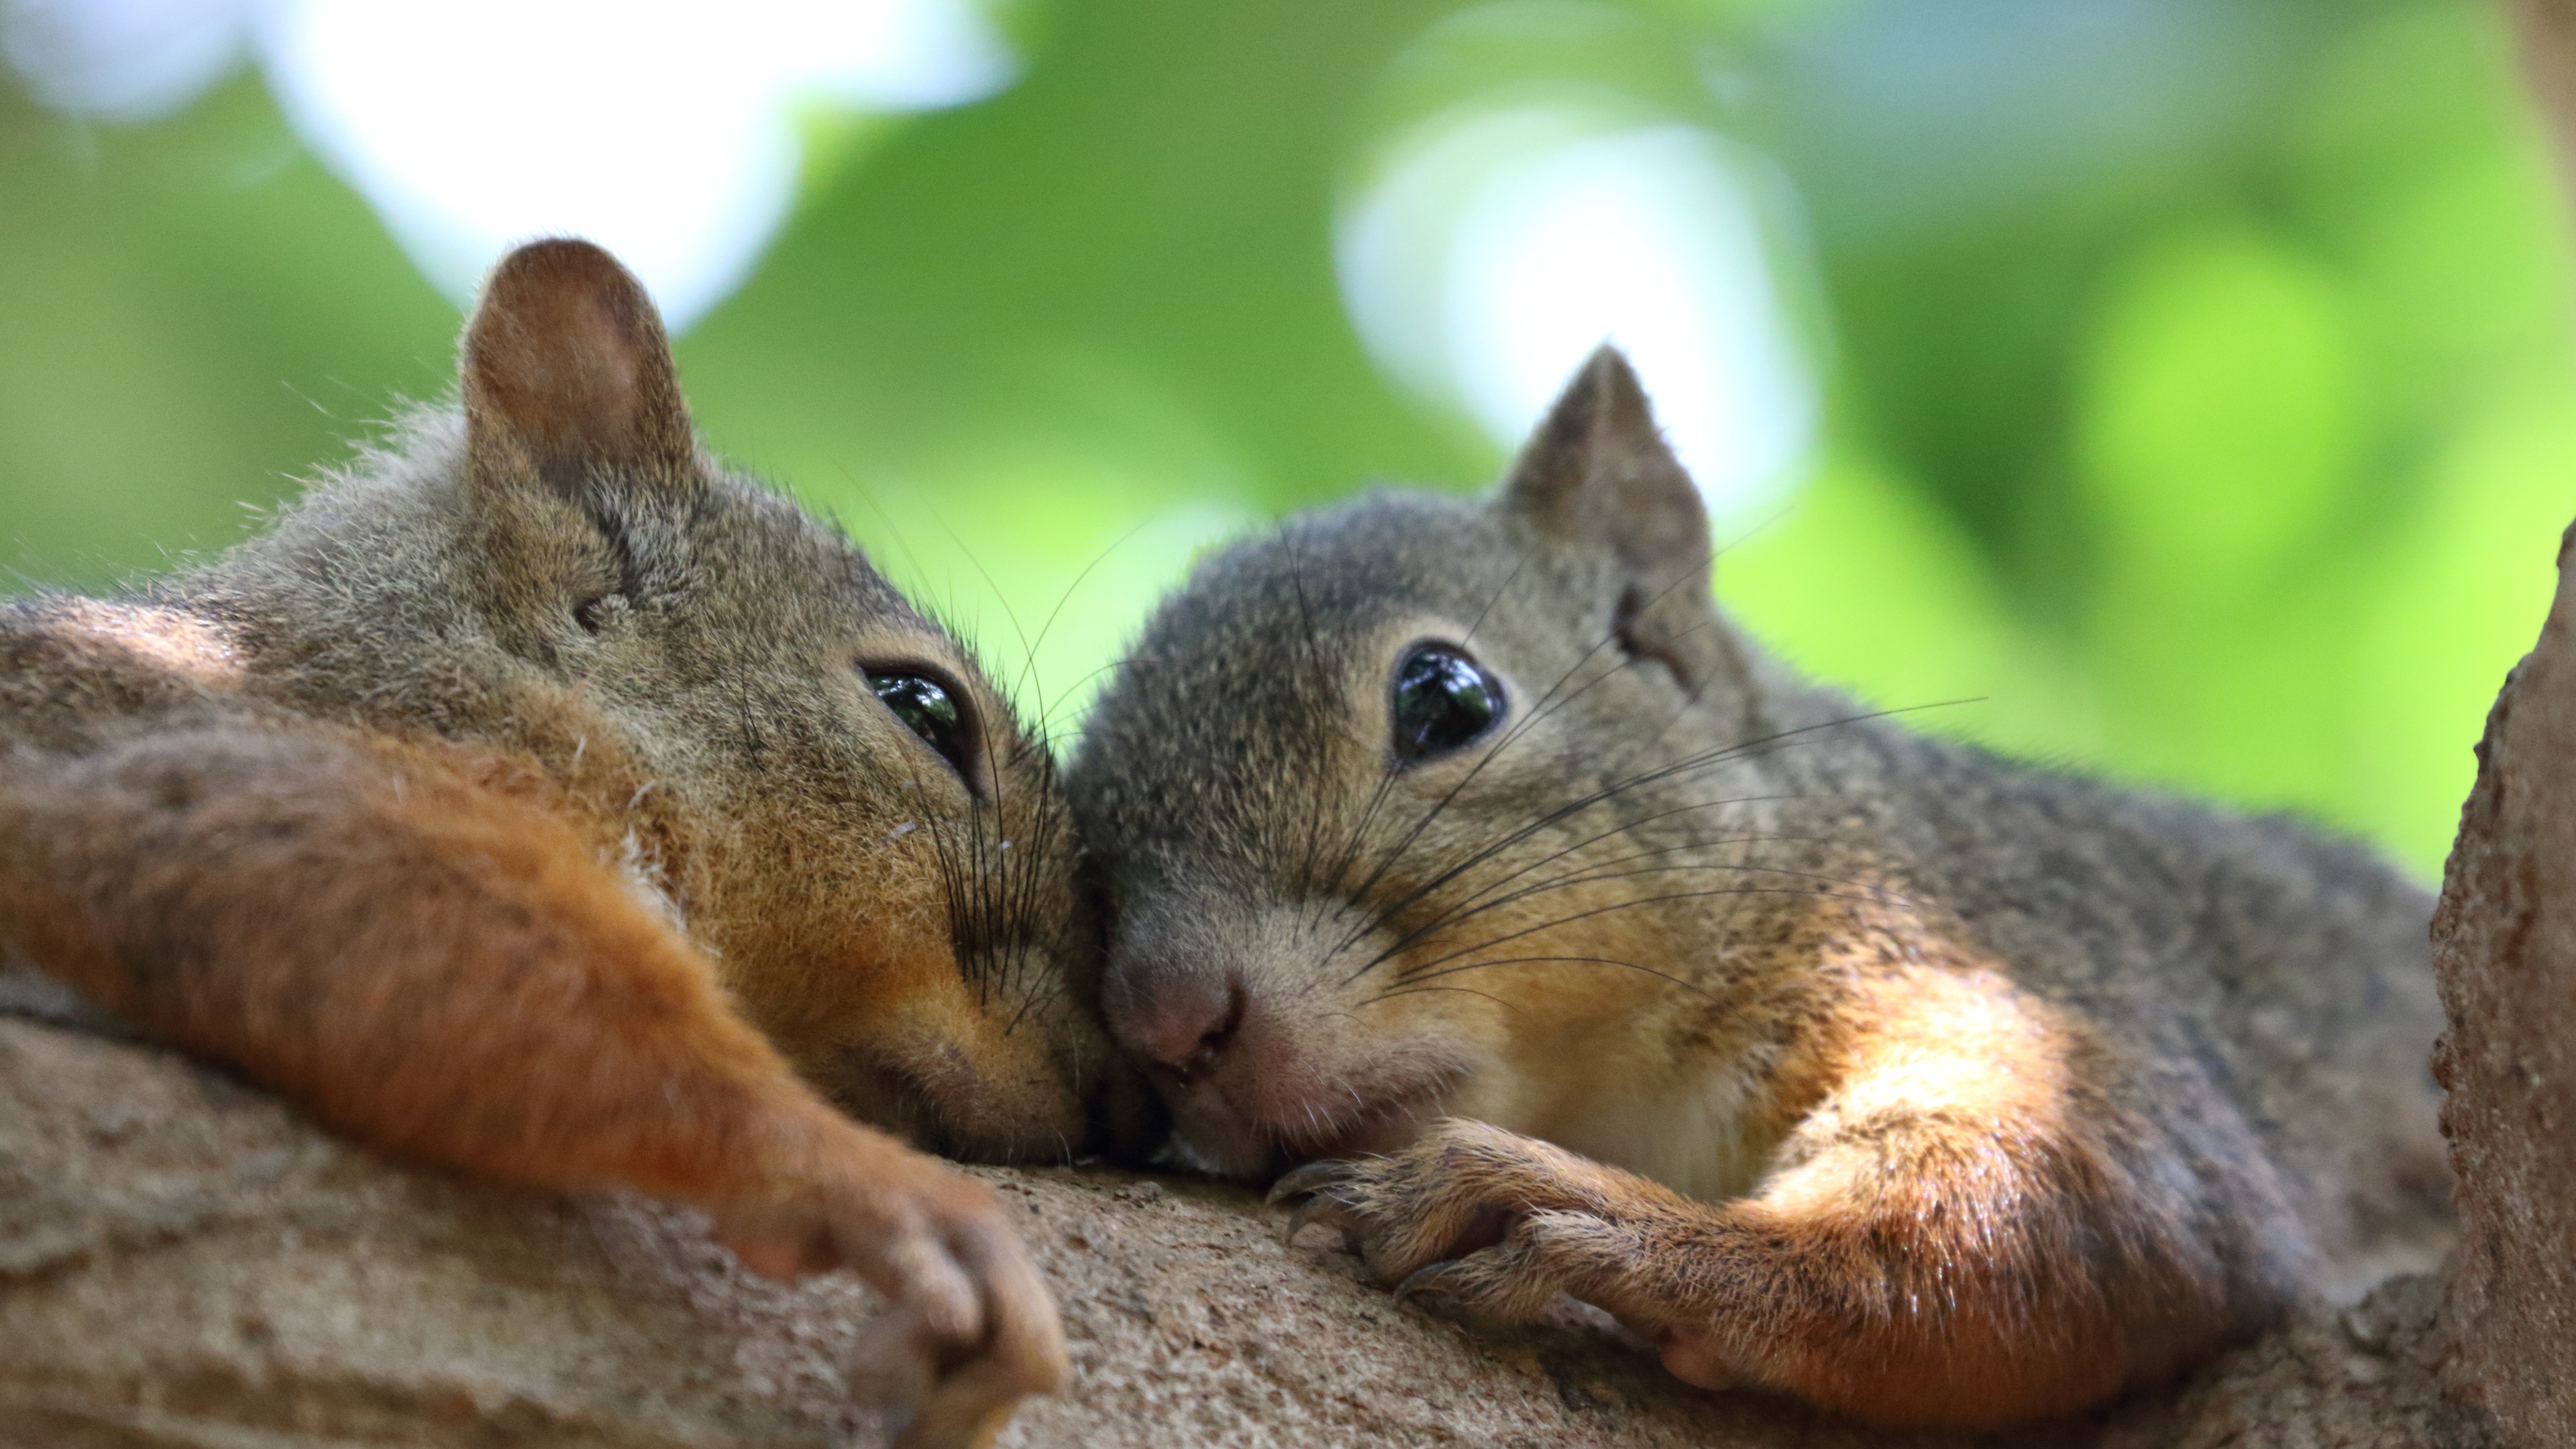
[[[1600,1328],[1484,1336],[1278,1243],[1213,1183],[994,1171],[1074,1387],[1005,1444],[1801,1446],[1873,1436],[1692,1392]],[[2316,1307],[2177,1395],[2020,1444],[2481,1449],[2429,1279]],[[878,1299],[744,1276],[690,1214],[461,1186],[209,1067],[0,1016],[0,1444],[878,1444]]]

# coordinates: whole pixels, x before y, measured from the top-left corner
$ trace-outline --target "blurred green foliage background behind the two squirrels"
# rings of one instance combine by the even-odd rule
[[[799,108],[793,209],[680,366],[719,449],[840,516],[997,676],[1025,665],[1030,714],[1077,730],[1208,539],[1370,480],[1497,477],[1504,425],[1425,382],[1448,353],[1406,364],[1396,322],[1355,315],[1368,286],[1443,286],[1448,253],[1370,273],[1355,237],[1419,137],[1517,106],[1705,139],[1741,180],[1795,376],[1765,394],[1788,462],[1713,490],[1718,590],[1770,645],[1880,704],[1978,696],[1927,727],[2439,869],[2576,516],[2568,235],[2483,5],[989,18],[1018,70],[981,101]],[[23,585],[222,547],[448,387],[456,299],[270,70],[106,119],[15,54],[0,565]]]

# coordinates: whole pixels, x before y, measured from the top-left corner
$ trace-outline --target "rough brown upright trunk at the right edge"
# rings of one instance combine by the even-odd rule
[[[2434,1073],[2460,1173],[2445,1382],[2514,1446],[2576,1444],[2576,531],[2486,717],[2434,913]]]

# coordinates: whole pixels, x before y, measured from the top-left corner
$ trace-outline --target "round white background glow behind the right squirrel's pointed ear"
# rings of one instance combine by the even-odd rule
[[[1504,449],[1618,343],[1710,508],[1757,508],[1795,485],[1819,423],[1762,186],[1757,155],[1700,126],[1437,116],[1345,209],[1342,297],[1381,366]]]

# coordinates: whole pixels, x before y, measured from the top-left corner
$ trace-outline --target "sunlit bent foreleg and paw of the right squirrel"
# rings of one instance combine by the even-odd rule
[[[2246,1323],[2236,1225],[2151,1129],[2097,1119],[2045,1029],[1875,1026],[1744,1199],[1481,1122],[1301,1168],[1275,1196],[1409,1292],[1504,1320],[1571,1294],[1690,1382],[1875,1423],[2069,1413]]]

